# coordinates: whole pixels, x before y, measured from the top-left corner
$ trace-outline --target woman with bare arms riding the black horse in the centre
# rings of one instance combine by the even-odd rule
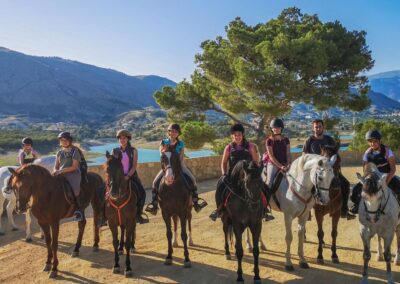
[[[230,175],[236,163],[241,160],[253,161],[259,166],[258,154],[253,143],[248,142],[245,138],[245,131],[242,124],[234,124],[230,129],[232,142],[226,145],[221,161],[222,176],[218,181],[217,190],[215,192],[215,203],[217,209],[214,210],[210,218],[216,221],[220,217],[223,206],[223,198],[225,192],[225,184],[229,183]],[[228,167],[229,165],[229,167]],[[264,216],[266,217],[266,216]]]

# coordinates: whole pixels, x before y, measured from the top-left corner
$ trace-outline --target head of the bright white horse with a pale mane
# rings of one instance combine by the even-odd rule
[[[314,185],[313,195],[317,203],[326,205],[329,203],[329,189],[335,177],[333,165],[336,162],[336,154],[330,159],[319,155],[306,155],[307,161],[304,164],[304,171],[309,171],[309,178]]]

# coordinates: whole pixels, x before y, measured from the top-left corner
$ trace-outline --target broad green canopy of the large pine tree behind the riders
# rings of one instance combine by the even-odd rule
[[[191,81],[154,95],[169,119],[204,121],[213,110],[253,129],[261,145],[265,125],[290,112],[289,102],[356,111],[370,103],[367,77],[359,75],[373,66],[365,32],[338,21],[323,23],[297,8],[255,26],[236,18],[226,37],[201,48]]]

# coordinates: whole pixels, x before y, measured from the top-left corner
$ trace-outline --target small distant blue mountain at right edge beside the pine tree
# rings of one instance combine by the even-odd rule
[[[372,90],[400,102],[400,71],[390,71],[369,76]]]

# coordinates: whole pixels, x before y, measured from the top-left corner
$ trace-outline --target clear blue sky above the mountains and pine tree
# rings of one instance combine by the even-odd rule
[[[375,60],[368,74],[400,69],[397,0],[0,0],[0,46],[179,82],[193,73],[201,42],[225,36],[235,17],[255,25],[292,6],[365,30]]]

